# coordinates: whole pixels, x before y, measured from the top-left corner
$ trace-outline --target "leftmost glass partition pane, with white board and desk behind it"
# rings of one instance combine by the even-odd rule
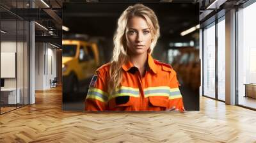
[[[1,21],[1,114],[16,109],[20,96],[17,93],[16,57],[17,22]],[[4,32],[3,32],[4,31]],[[17,96],[18,95],[18,96]]]

